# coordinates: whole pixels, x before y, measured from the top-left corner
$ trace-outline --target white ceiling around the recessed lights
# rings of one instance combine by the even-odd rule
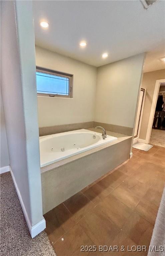
[[[33,1],[33,12],[38,46],[96,67],[148,52],[144,71],[164,68],[157,60],[165,56],[164,1],[147,10],[138,0]],[[42,29],[40,21],[49,28]],[[87,41],[85,48],[81,40]]]

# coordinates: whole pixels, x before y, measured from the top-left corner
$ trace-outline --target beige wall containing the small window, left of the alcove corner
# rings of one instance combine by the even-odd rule
[[[39,127],[94,119],[96,67],[36,46],[36,65],[73,74],[73,98],[38,96]]]

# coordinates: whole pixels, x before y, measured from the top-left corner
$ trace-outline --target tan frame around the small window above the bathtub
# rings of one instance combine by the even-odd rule
[[[69,78],[69,95],[37,92],[38,96],[59,97],[59,98],[72,98],[73,75],[67,74],[67,73],[63,73],[63,72],[58,72],[58,71],[51,70],[51,69],[46,69],[46,68],[38,67],[38,66],[36,66],[36,72],[41,72],[41,73],[46,73],[46,74],[50,74],[50,75],[55,75],[55,76]]]

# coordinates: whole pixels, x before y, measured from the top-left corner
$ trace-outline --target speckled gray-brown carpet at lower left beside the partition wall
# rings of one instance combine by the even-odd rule
[[[9,172],[0,175],[1,256],[56,256],[45,231],[31,238]]]

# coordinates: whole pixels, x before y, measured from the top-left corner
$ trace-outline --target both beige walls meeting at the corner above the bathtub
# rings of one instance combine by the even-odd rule
[[[139,54],[96,68],[36,46],[37,66],[73,74],[72,99],[38,96],[39,127],[94,120],[133,128],[143,60]]]

